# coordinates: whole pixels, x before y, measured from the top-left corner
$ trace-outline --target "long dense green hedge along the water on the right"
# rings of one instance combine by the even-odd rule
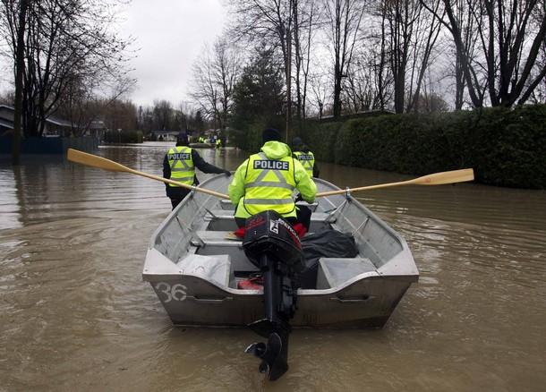
[[[546,105],[308,124],[318,160],[409,175],[473,167],[476,181],[546,189]]]

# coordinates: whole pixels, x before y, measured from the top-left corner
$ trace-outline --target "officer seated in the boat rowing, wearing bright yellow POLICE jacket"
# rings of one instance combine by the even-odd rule
[[[292,151],[281,141],[276,129],[266,129],[262,141],[261,152],[237,168],[229,185],[237,226],[243,227],[247,217],[273,209],[290,224],[301,222],[309,230],[311,209],[296,208],[292,194],[296,189],[302,200],[311,203],[317,186],[300,161],[292,157]]]

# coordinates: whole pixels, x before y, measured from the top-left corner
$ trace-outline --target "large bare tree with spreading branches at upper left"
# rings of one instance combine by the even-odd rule
[[[25,134],[41,135],[45,120],[57,110],[74,80],[105,80],[124,72],[128,43],[110,29],[117,0],[27,0],[24,35],[22,122]],[[17,47],[13,4],[2,0],[0,34]]]

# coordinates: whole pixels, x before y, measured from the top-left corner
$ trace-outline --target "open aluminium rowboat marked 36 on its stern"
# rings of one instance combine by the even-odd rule
[[[226,176],[201,186],[226,192]],[[316,180],[320,192],[337,189]],[[322,258],[317,288],[300,289],[294,327],[380,328],[419,272],[404,239],[350,195],[320,198],[312,206],[311,231],[335,229],[354,236],[359,255]],[[233,207],[191,193],[158,227],[149,243],[143,280],[158,295],[175,325],[243,327],[263,317],[263,294],[237,282],[256,272],[235,229]]]

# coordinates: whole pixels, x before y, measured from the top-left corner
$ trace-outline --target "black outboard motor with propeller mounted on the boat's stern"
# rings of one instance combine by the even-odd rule
[[[259,370],[275,380],[288,370],[288,321],[294,317],[297,284],[294,274],[303,269],[302,244],[294,228],[273,210],[246,220],[243,249],[263,276],[265,318],[249,327],[268,343],[245,350],[261,359]]]

